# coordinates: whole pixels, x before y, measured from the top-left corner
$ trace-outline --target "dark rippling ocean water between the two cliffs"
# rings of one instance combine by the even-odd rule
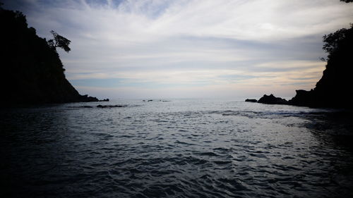
[[[0,196],[353,197],[351,115],[201,99],[1,109]]]

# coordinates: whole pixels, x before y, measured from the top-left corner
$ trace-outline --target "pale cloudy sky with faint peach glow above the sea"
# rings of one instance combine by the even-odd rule
[[[8,0],[59,49],[80,94],[110,99],[294,97],[321,78],[322,37],[353,22],[338,0]]]

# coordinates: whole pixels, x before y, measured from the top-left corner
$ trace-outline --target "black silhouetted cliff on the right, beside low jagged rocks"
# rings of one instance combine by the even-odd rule
[[[352,109],[353,96],[353,25],[324,37],[328,52],[323,77],[311,91],[297,90],[290,104],[313,107]]]

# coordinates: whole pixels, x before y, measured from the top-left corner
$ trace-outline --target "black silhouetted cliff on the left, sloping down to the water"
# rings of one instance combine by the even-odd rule
[[[66,80],[59,54],[28,27],[25,16],[0,8],[0,101],[44,104],[97,101]]]

